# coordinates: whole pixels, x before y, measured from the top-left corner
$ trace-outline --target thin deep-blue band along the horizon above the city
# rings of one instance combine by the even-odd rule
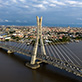
[[[16,25],[16,26],[37,26],[35,22],[28,22],[28,23],[18,23],[18,22],[0,22],[0,25]],[[82,24],[46,24],[43,23],[43,26],[49,27],[82,27]]]

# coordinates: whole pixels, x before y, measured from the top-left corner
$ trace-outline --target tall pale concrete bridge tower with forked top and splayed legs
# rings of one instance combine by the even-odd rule
[[[41,46],[41,54],[46,55],[45,47],[44,47],[44,43],[43,43],[43,39],[42,39],[42,17],[39,19],[39,17],[36,16],[36,19],[37,19],[37,38],[35,41],[33,54],[32,54],[32,58],[31,58],[31,62],[30,62],[31,66],[29,66],[32,69],[36,69],[36,68],[40,67],[39,65],[36,65],[36,56],[37,56],[38,45]],[[39,44],[39,41],[40,41],[40,44]],[[27,66],[28,66],[28,64],[27,64]]]

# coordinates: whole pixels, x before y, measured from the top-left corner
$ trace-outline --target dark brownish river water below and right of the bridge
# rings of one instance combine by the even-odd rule
[[[82,59],[82,42],[67,45]],[[21,54],[7,54],[0,49],[0,82],[81,82],[82,78],[48,64],[37,70],[25,66],[30,58]]]

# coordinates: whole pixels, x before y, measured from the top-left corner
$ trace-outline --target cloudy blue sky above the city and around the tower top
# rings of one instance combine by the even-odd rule
[[[82,25],[82,0],[0,0],[0,23]]]

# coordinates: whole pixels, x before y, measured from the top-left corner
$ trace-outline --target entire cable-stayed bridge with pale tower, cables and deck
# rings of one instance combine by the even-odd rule
[[[53,39],[52,39],[53,41]],[[60,69],[64,69],[77,76],[82,77],[82,60],[75,55],[60,40],[58,42],[48,43],[44,45],[42,39],[42,17],[37,17],[37,38],[35,44],[31,43],[27,46],[26,42],[0,42],[0,48],[8,50],[8,53],[20,53],[31,57],[31,62],[26,66],[36,69],[40,67],[41,62],[51,64]],[[36,62],[40,60],[40,62]]]

